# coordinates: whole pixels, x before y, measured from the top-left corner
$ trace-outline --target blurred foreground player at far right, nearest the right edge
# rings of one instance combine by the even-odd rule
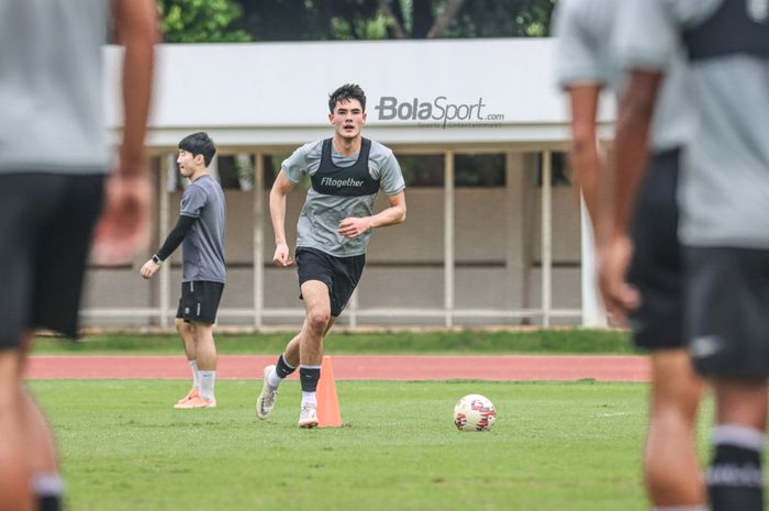
[[[636,190],[648,179],[640,162],[659,84],[680,38],[699,119],[679,192],[684,331],[716,398],[709,498],[714,511],[759,511],[769,375],[769,4],[632,0],[628,9],[620,54],[634,70],[617,122],[616,221],[601,269],[606,297],[620,310],[634,302],[623,246],[631,204],[643,200]]]

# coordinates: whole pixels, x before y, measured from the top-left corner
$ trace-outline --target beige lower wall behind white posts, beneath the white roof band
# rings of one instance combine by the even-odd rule
[[[534,155],[513,155],[508,171],[511,182],[498,188],[457,188],[455,190],[455,307],[506,311],[540,307],[540,188],[536,185]],[[158,189],[158,193],[160,190]],[[444,308],[444,190],[443,188],[410,188],[408,220],[404,224],[377,230],[371,236],[367,268],[358,288],[358,307],[363,309]],[[227,285],[222,310],[254,308],[253,230],[254,193],[225,191],[227,201],[229,265]],[[180,192],[169,197],[172,224],[179,212]],[[271,227],[267,210],[259,215],[265,226],[266,244],[263,257],[265,308],[296,309],[298,300],[296,267],[277,268],[270,264]],[[296,240],[296,223],[304,201],[297,190],[288,196],[287,236]],[[383,209],[383,197],[376,210]],[[571,187],[553,190],[554,278],[553,306],[556,309],[579,309],[580,298],[580,221]],[[158,215],[156,215],[158,218]],[[124,269],[92,269],[86,292],[86,309],[93,308],[157,308],[160,280],[147,282],[140,278],[138,268],[160,244],[156,236],[151,252]],[[180,282],[180,249],[170,258],[170,304],[176,307]],[[154,313],[153,313],[154,314]],[[87,324],[156,325],[153,314],[140,318],[98,318]],[[345,323],[348,314],[344,314]],[[533,321],[537,321],[534,319]],[[294,324],[296,319],[266,316],[266,324]],[[569,320],[578,323],[578,319]],[[221,324],[253,324],[253,316],[224,318]],[[361,318],[359,324],[442,324],[441,318],[404,319]],[[520,324],[520,319],[457,318],[455,324]]]

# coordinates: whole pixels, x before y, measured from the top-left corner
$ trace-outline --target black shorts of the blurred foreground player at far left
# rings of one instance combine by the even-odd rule
[[[104,178],[0,174],[0,349],[18,347],[32,329],[77,336]]]

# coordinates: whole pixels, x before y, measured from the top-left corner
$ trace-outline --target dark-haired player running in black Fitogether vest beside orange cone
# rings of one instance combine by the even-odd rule
[[[317,425],[315,390],[321,377],[323,338],[353,295],[364,270],[371,230],[405,220],[405,184],[392,151],[364,138],[366,95],[357,85],[344,85],[328,98],[332,138],[305,144],[281,166],[270,191],[278,266],[292,264],[286,241],[286,196],[303,175],[312,187],[299,215],[297,267],[300,298],[307,315],[301,332],[286,346],[276,365],[264,370],[256,415],[266,419],[278,397],[278,386],[299,367],[302,386],[300,427]],[[389,207],[372,214],[379,189]]]

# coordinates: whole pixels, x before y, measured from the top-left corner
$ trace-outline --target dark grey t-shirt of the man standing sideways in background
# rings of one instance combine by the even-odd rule
[[[198,219],[181,245],[181,281],[208,280],[224,284],[227,207],[222,187],[211,176],[199,177],[182,193],[180,214]]]

